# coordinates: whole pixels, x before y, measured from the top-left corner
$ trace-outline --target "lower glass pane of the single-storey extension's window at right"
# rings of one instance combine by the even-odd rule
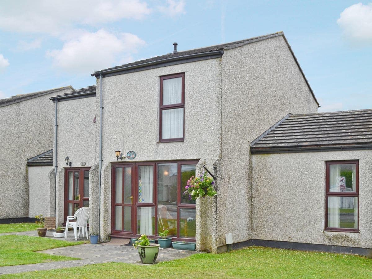
[[[328,227],[358,228],[358,198],[328,197]]]

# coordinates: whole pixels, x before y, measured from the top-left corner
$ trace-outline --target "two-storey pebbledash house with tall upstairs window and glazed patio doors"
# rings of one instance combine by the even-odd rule
[[[318,102],[282,32],[190,51],[176,47],[92,74],[90,230],[108,241],[168,228],[175,240],[222,252],[225,234],[234,243],[253,237],[250,142],[289,112],[316,113]],[[65,187],[68,167],[61,164],[72,158],[69,148],[57,156]],[[83,155],[74,161],[86,161]],[[215,174],[218,195],[185,199],[186,180],[204,167]]]

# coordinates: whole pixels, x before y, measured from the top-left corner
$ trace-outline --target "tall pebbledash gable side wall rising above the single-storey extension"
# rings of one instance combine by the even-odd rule
[[[251,231],[250,142],[288,113],[318,104],[283,36],[225,50],[222,56],[222,159],[218,181],[218,251]]]

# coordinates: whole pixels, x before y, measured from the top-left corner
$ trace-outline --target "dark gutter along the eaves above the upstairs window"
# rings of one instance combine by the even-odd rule
[[[97,71],[97,72],[94,72],[93,74],[91,74],[91,76],[92,77],[94,77],[94,76],[97,77],[98,75],[100,75],[100,76],[103,75],[104,76],[105,74],[115,73],[115,72],[118,72],[118,71],[143,68],[143,67],[147,67],[147,66],[163,64],[163,63],[166,63],[166,62],[186,60],[186,59],[205,57],[205,56],[213,56],[213,55],[221,56],[222,54],[224,54],[224,51],[222,49],[218,50],[218,51],[208,51],[208,52],[202,52],[202,53],[196,53],[196,54],[187,54],[187,55],[182,55],[182,56],[177,56],[177,57],[170,57],[170,58],[160,59],[160,60],[151,61],[151,62],[145,62],[145,63],[141,63],[141,64],[128,65],[128,66],[124,66],[124,67],[117,67],[117,68]]]

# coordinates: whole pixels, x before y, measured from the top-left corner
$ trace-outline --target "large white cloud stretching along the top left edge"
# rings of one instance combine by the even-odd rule
[[[142,19],[150,12],[147,3],[141,0],[2,0],[0,29],[59,36],[75,29],[75,25]]]

